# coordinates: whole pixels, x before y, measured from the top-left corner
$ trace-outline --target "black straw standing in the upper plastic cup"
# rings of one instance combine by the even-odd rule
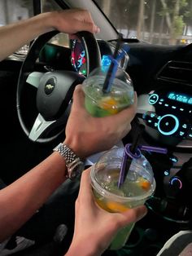
[[[119,33],[118,35],[118,40],[116,42],[116,48],[115,48],[115,51],[114,51],[114,54],[112,56],[112,59],[113,60],[116,60],[116,57],[118,56],[118,51],[120,50],[120,45],[121,45],[121,42],[122,42],[122,34]],[[110,91],[110,88],[111,88],[111,77],[114,73],[114,68],[115,68],[115,63],[113,61],[111,61],[111,64],[108,68],[108,71],[107,71],[107,76],[106,76],[106,79],[103,83],[103,93],[108,93]]]

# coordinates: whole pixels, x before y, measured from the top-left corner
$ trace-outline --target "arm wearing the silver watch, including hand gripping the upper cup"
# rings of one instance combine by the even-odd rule
[[[84,93],[76,86],[72,111],[66,126],[64,143],[78,157],[88,157],[94,152],[111,148],[130,130],[135,104],[112,117],[91,117],[84,107]],[[99,131],[98,131],[99,127]],[[65,180],[66,166],[63,157],[54,152],[38,166],[0,190],[0,241],[19,229],[48,196]]]

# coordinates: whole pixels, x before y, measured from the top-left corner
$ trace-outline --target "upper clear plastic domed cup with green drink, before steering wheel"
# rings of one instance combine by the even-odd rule
[[[129,74],[117,68],[111,90],[103,92],[108,66],[95,68],[83,82],[85,108],[94,117],[106,117],[129,107],[134,101],[133,83]]]

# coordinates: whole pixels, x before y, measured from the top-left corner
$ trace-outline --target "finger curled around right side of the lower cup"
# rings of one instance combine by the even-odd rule
[[[122,215],[124,215],[124,221],[122,222],[122,224],[127,224],[127,223],[135,223],[138,220],[140,220],[141,218],[143,218],[145,215],[147,214],[147,209],[145,205],[142,206],[138,206],[134,209],[130,209],[124,213],[122,213]]]

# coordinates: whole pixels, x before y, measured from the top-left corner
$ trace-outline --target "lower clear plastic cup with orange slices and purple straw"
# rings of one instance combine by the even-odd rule
[[[143,155],[133,159],[123,185],[118,188],[124,148],[115,148],[99,158],[92,166],[90,182],[98,205],[111,213],[124,212],[143,205],[155,191],[155,179],[150,163]],[[122,248],[133,230],[134,223],[123,227],[111,242],[109,249]]]

